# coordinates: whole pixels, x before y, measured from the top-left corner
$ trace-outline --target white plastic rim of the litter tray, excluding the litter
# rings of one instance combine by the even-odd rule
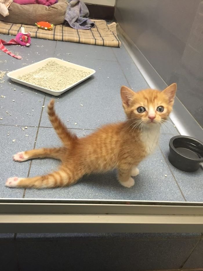
[[[22,76],[22,75],[24,75],[26,73],[35,71],[35,70],[43,67],[50,60],[55,61],[58,64],[64,65],[64,66],[66,66],[68,68],[78,69],[78,70],[81,70],[81,71],[89,72],[90,74],[88,76],[84,77],[82,80],[79,80],[79,81],[75,82],[72,85],[68,85],[67,87],[65,87],[64,89],[62,89],[60,91],[54,91],[52,89],[47,89],[47,88],[44,88],[44,87],[40,87],[40,86],[37,86],[37,85],[34,85],[34,84],[31,84],[31,83],[28,83],[28,82],[25,82],[23,80],[18,79],[18,76]],[[34,89],[41,90],[43,92],[46,92],[46,93],[54,95],[54,96],[59,96],[62,93],[66,92],[68,89],[71,89],[72,87],[74,87],[74,86],[78,85],[79,83],[83,82],[84,80],[86,80],[87,78],[92,76],[94,73],[95,73],[95,70],[93,70],[93,69],[89,69],[89,68],[86,68],[86,67],[74,64],[74,63],[70,63],[70,62],[61,60],[59,58],[46,58],[46,59],[41,60],[41,61],[39,61],[37,63],[34,63],[34,64],[28,65],[26,67],[23,67],[21,69],[17,69],[15,71],[10,71],[9,73],[7,73],[7,76],[10,77],[12,81],[17,82],[17,83],[19,83],[21,85],[25,85],[27,87],[32,87]],[[54,76],[55,75],[53,74],[53,77]]]

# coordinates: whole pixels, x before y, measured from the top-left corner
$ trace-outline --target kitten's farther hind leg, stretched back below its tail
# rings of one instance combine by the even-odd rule
[[[13,155],[13,160],[18,162],[23,162],[32,158],[54,158],[62,160],[64,153],[66,152],[66,148],[41,148],[34,150],[26,150],[25,152],[18,152]]]

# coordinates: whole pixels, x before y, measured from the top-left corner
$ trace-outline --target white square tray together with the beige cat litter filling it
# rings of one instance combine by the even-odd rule
[[[58,58],[47,58],[11,71],[7,76],[14,82],[59,96],[94,73],[93,69]]]

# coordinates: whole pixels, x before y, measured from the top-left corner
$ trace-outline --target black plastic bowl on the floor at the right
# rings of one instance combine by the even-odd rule
[[[203,143],[192,137],[172,137],[169,150],[168,160],[182,171],[196,171],[203,162]]]

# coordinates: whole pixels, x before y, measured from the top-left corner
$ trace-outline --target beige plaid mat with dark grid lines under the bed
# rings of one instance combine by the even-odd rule
[[[26,32],[31,33],[31,37],[60,40],[64,42],[77,42],[109,47],[120,47],[121,42],[117,37],[116,23],[107,24],[103,20],[94,20],[95,27],[88,30],[77,30],[62,24],[56,25],[52,30],[43,30],[37,26],[25,24],[11,24],[0,21],[0,33],[8,35],[17,35],[23,26]]]

